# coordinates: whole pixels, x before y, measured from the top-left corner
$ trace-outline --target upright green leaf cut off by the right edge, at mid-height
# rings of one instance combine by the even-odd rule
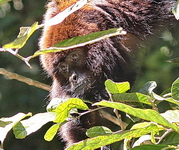
[[[172,98],[179,100],[179,78],[173,82],[171,92]]]

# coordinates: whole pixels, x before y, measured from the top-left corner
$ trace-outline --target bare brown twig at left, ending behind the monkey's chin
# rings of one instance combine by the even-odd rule
[[[15,79],[15,80],[24,82],[24,83],[26,83],[28,85],[32,85],[32,86],[38,87],[40,89],[44,89],[46,91],[50,90],[50,86],[49,85],[46,85],[44,83],[32,80],[30,78],[18,75],[16,73],[9,72],[9,71],[7,71],[4,68],[0,68],[0,74],[7,76],[9,79]]]

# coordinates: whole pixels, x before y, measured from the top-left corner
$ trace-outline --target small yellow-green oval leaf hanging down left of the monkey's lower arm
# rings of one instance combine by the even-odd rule
[[[44,139],[46,141],[51,141],[56,133],[58,132],[58,129],[60,128],[60,124],[54,124],[51,126],[48,131],[45,133]]]

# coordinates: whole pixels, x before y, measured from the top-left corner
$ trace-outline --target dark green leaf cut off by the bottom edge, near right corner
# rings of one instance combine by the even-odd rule
[[[174,150],[168,145],[142,145],[132,148],[131,150]]]

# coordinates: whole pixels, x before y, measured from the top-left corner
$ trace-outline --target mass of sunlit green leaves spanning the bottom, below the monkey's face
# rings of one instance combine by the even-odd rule
[[[95,149],[122,140],[124,140],[124,149],[140,150],[144,147],[145,144],[143,143],[146,141],[150,141],[151,143],[145,145],[146,149],[150,149],[151,147],[153,149],[160,149],[161,147],[176,149],[179,144],[179,109],[177,109],[179,106],[178,83],[179,78],[172,84],[169,93],[157,95],[153,92],[154,88],[152,86],[154,84],[156,85],[155,82],[148,82],[142,87],[141,91],[148,93],[145,94],[119,92],[126,91],[124,89],[128,89],[128,83],[114,83],[107,80],[105,85],[111,95],[111,100],[103,100],[94,103],[93,105],[97,105],[101,109],[104,107],[117,109],[127,113],[128,117],[130,116],[129,118],[135,117],[138,118],[138,120],[136,119],[137,121],[134,121],[134,119],[131,119],[131,121],[127,123],[126,129],[123,131],[119,130],[112,132],[106,127],[93,127],[87,131],[87,135],[90,138],[76,143],[67,149]],[[118,92],[113,92],[115,89],[118,89]],[[157,110],[157,106],[163,101],[169,102],[171,110],[167,110],[165,113],[160,113]],[[136,103],[139,103],[140,105]],[[135,107],[132,107],[131,105],[135,105]],[[45,113],[36,114],[28,119],[24,118],[31,116],[31,114],[21,113],[14,117],[2,118],[0,119],[0,140],[3,143],[10,129],[13,129],[16,138],[23,139],[40,129],[41,126],[47,122],[53,121],[54,125],[44,136],[45,140],[50,141],[57,133],[58,128],[66,122],[66,119],[72,117],[70,116],[70,112],[77,111],[76,108],[87,110],[85,113],[95,111],[95,109],[89,110],[83,100],[77,98],[71,98],[65,102],[59,99],[54,99],[49,104],[48,110]],[[79,114],[79,116],[81,115],[83,115],[83,113]],[[131,124],[132,127],[130,127]],[[173,138],[174,136],[175,138]]]

